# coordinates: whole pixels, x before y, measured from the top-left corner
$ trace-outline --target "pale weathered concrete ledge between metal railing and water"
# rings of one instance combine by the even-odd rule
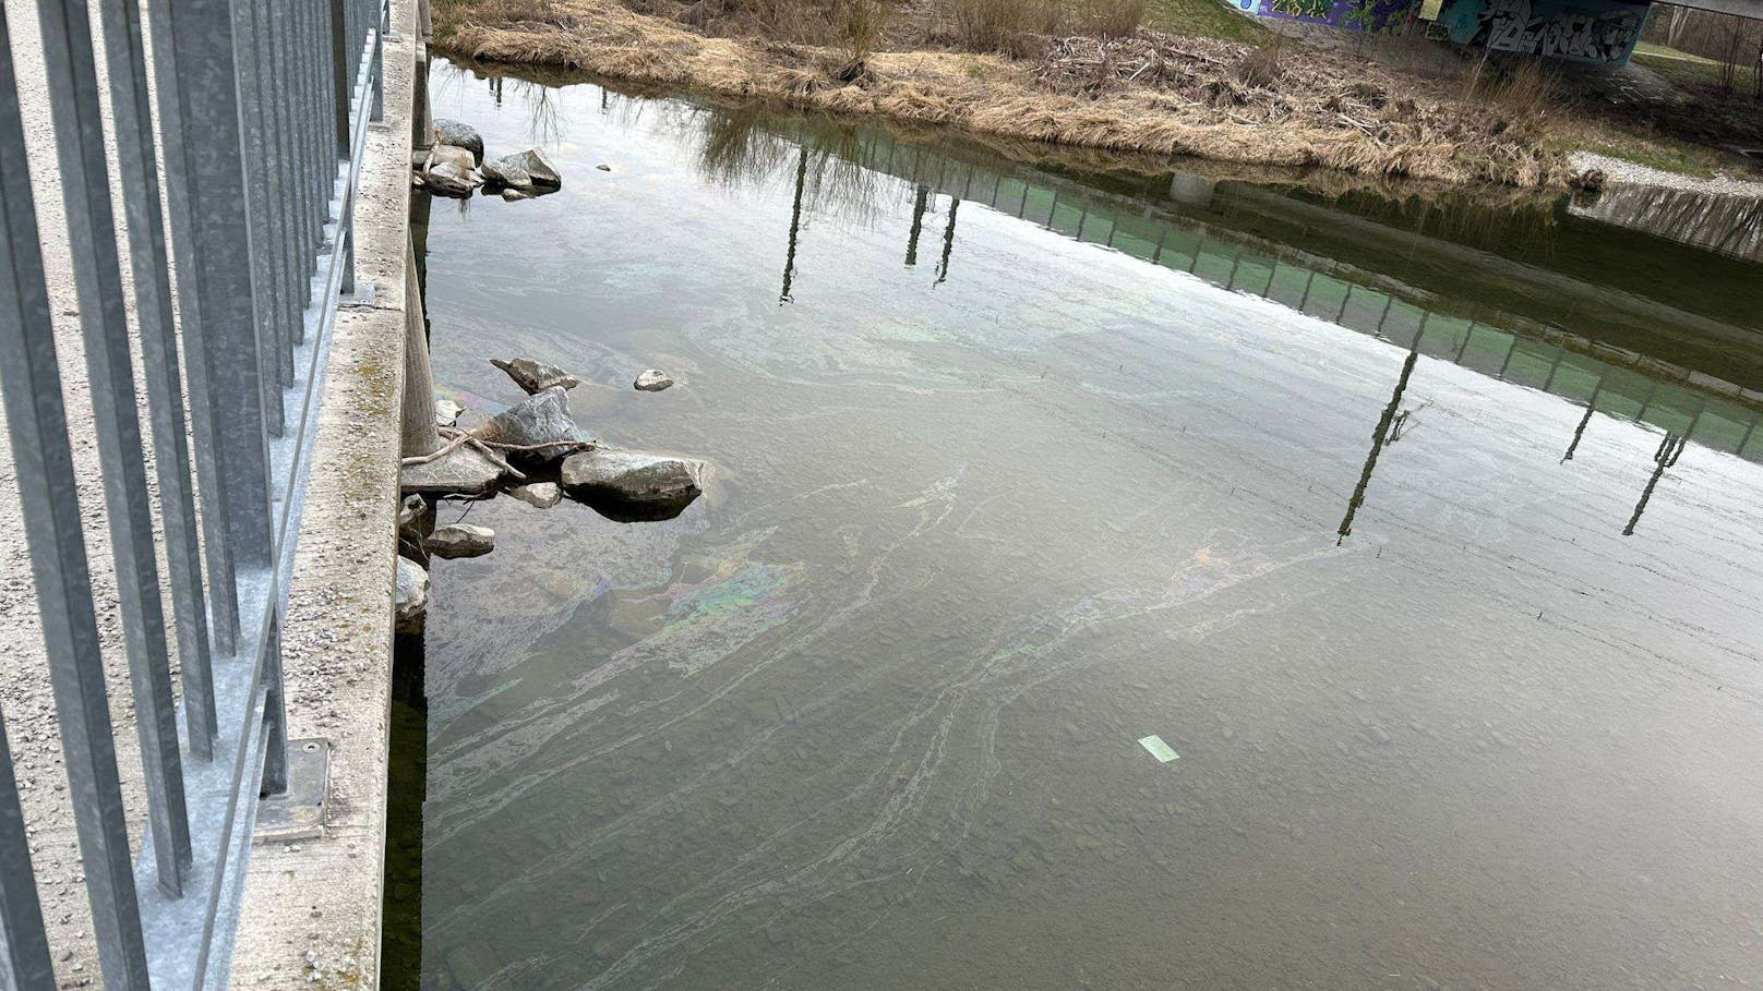
[[[324,739],[323,836],[257,843],[233,945],[234,987],[379,986],[397,561],[400,402],[411,261],[409,160],[427,123],[420,0],[391,0],[384,125],[368,129],[356,205],[356,286],[330,346],[282,656],[291,739]],[[420,321],[420,317],[418,317]]]

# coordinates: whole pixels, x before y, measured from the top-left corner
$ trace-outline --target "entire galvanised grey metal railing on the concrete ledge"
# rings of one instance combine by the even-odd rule
[[[35,4],[141,746],[148,822],[136,855],[26,180],[16,23],[5,23],[30,9],[0,7],[0,393],[93,936],[108,987],[222,987],[257,799],[286,788],[280,626],[330,330],[354,287],[354,199],[390,11],[386,0],[145,0],[143,23],[143,0]],[[4,721],[0,938],[0,987],[55,987]]]

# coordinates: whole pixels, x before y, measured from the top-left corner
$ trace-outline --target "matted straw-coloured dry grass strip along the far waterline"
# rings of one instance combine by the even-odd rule
[[[1567,176],[1564,155],[1544,150],[1534,122],[1506,104],[1462,102],[1319,51],[1282,60],[1276,79],[1250,86],[1239,69],[1250,46],[1144,30],[1060,39],[1035,62],[878,51],[846,81],[841,48],[703,37],[614,0],[444,0],[435,34],[443,49],[487,62],[1028,141],[1520,187],[1560,187]]]

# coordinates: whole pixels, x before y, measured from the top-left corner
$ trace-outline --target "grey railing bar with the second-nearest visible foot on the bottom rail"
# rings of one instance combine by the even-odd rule
[[[171,270],[166,265],[166,229],[159,213],[159,166],[153,157],[141,7],[132,0],[102,0],[99,18],[104,23],[104,60],[109,67],[118,150],[116,171],[129,224],[129,263],[134,273],[136,319],[141,324],[141,363],[146,370],[148,413],[153,425],[153,458],[178,659],[183,665],[189,744],[199,760],[212,760],[217,726],[208,654],[208,607],[197,563],[196,499],[190,487],[183,381],[178,374],[178,342],[171,314]]]

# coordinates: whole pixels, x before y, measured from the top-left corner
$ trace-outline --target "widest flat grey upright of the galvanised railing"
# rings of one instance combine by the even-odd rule
[[[201,309],[205,365],[215,409],[215,476],[226,541],[238,566],[270,563],[268,448],[257,370],[257,287],[240,123],[238,62],[229,0],[155,4],[180,72],[180,118],[205,134],[201,153],[183,143],[185,208],[192,212],[190,261]],[[155,32],[157,35],[159,32]],[[182,268],[182,265],[180,265]],[[189,296],[187,296],[189,298]]]

